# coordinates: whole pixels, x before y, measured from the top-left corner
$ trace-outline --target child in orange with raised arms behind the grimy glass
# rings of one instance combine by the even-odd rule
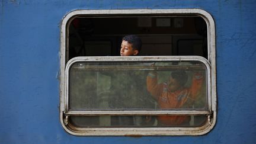
[[[202,87],[203,76],[195,73],[190,88],[184,87],[187,79],[185,71],[174,71],[167,83],[158,84],[157,73],[150,72],[147,76],[147,89],[162,110],[189,108]],[[159,126],[181,126],[189,124],[190,116],[158,116],[157,120]]]

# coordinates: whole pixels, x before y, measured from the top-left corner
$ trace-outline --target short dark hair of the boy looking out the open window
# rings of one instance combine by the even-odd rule
[[[142,41],[139,37],[135,35],[127,35],[124,36],[122,40],[128,41],[128,43],[132,44],[134,50],[138,50],[140,52],[140,49],[142,47]]]

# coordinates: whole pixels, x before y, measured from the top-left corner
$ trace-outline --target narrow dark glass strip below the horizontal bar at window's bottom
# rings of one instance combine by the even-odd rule
[[[167,118],[167,116],[165,116]],[[75,127],[200,127],[207,116],[169,116],[169,119],[186,119],[185,123],[161,123],[161,116],[72,116]]]

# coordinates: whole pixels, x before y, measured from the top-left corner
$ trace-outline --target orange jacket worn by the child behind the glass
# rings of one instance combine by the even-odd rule
[[[199,93],[203,83],[203,76],[195,73],[190,88],[183,88],[171,92],[165,83],[158,84],[156,73],[149,73],[147,76],[147,89],[152,96],[158,101],[161,109],[182,109],[191,107],[196,95]],[[188,124],[190,116],[158,116],[158,124],[161,126],[177,126],[180,124]]]

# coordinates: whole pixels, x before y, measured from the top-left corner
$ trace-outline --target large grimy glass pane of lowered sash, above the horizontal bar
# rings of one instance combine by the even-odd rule
[[[71,110],[207,110],[201,62],[79,62],[69,72]]]

